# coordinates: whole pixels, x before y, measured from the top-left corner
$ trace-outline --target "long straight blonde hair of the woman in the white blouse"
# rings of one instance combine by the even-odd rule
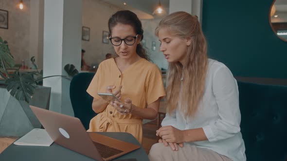
[[[169,63],[167,74],[167,112],[173,112],[180,102],[180,111],[185,116],[194,116],[203,97],[205,77],[208,68],[207,44],[197,16],[186,12],[175,12],[164,17],[156,28],[158,36],[161,29],[167,29],[179,38],[191,38],[187,47],[187,60],[183,66],[179,62]],[[179,90],[182,80],[181,100]]]

